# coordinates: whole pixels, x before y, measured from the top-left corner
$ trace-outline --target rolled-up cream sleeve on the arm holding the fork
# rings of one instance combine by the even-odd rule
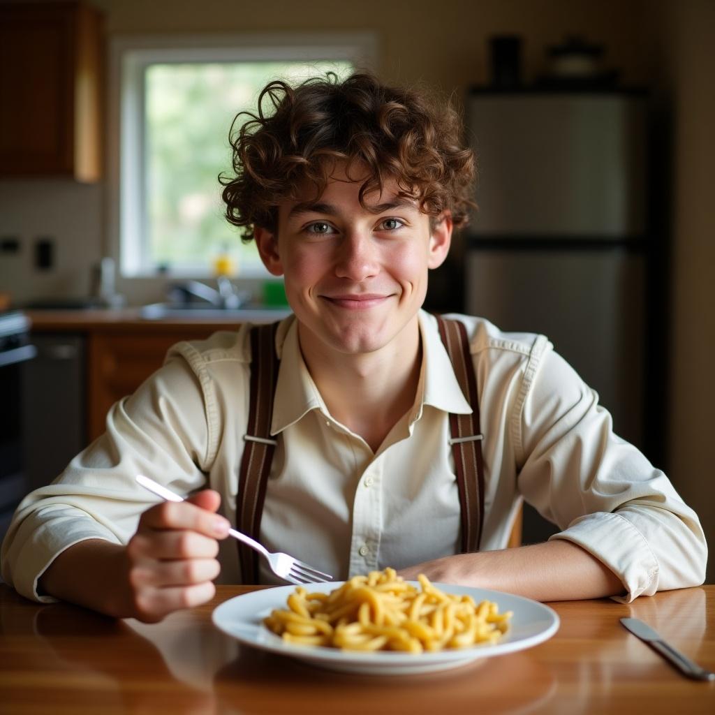
[[[35,601],[54,601],[37,583],[62,551],[87,539],[127,543],[157,501],[137,485],[137,474],[182,494],[202,488],[212,443],[207,397],[202,375],[176,355],[119,400],[106,433],[17,508],[2,545],[6,583]]]

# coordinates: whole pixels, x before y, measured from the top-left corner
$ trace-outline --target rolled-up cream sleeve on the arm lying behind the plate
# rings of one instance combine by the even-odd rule
[[[616,600],[705,578],[707,546],[696,513],[666,475],[613,433],[598,395],[553,350],[535,356],[516,415],[518,486],[566,539],[623,582]]]

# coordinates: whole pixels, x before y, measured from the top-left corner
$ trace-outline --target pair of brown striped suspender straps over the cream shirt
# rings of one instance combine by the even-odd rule
[[[477,383],[463,323],[436,317],[440,337],[460,388],[473,410],[471,415],[449,415],[450,445],[462,516],[462,552],[468,553],[479,550],[484,517],[484,465]],[[257,325],[251,328],[250,333],[250,408],[236,495],[236,527],[257,540],[260,538],[263,502],[277,444],[270,435],[279,365],[275,351],[277,325]],[[257,553],[240,542],[238,553],[243,582],[259,583]]]

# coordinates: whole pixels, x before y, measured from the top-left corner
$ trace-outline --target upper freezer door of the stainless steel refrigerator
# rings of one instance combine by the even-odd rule
[[[473,232],[643,235],[646,100],[629,94],[473,94]]]

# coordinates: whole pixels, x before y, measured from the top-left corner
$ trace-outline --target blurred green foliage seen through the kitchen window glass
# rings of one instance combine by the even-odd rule
[[[260,260],[223,217],[218,175],[230,171],[228,141],[238,112],[255,111],[272,79],[297,82],[326,71],[345,77],[348,62],[152,64],[146,71],[144,265],[210,272],[226,249],[241,268]]]

